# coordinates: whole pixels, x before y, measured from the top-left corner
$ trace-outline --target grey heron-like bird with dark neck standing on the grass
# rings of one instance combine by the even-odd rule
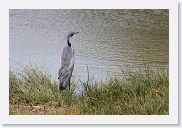
[[[69,32],[67,37],[67,46],[64,47],[63,53],[61,55],[60,61],[60,69],[58,71],[58,79],[59,79],[59,90],[65,90],[67,86],[69,86],[70,90],[70,81],[72,72],[74,69],[74,61],[75,61],[75,52],[74,49],[71,47],[70,38],[73,37],[75,34],[79,32]]]

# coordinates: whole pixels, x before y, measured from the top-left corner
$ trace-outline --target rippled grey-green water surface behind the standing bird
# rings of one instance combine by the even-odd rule
[[[168,67],[168,10],[10,10],[10,69],[41,65],[57,78],[70,31],[76,79],[122,75],[122,69]]]

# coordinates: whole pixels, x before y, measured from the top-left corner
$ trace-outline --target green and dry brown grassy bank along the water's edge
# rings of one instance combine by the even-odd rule
[[[142,72],[142,73],[141,73]],[[166,115],[169,113],[167,70],[123,72],[105,82],[83,82],[84,92],[60,92],[56,80],[41,68],[24,67],[10,71],[10,114],[98,114]]]

